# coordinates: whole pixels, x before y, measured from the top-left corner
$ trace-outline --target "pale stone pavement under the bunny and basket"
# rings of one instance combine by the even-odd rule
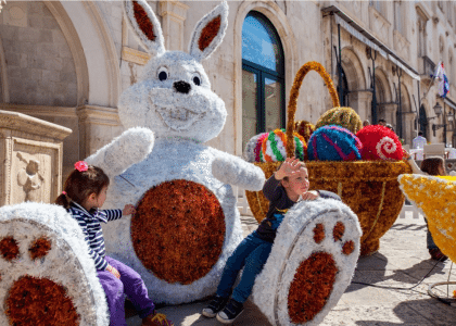
[[[250,216],[242,216],[242,225],[244,235],[257,227],[256,221]],[[449,272],[449,280],[456,280],[456,266],[452,266],[452,262],[435,264],[429,259],[423,220],[400,218],[381,239],[380,250],[371,256],[359,259],[352,284],[320,325],[456,325],[456,306],[444,304],[428,296],[429,285],[446,281]],[[413,290],[391,289],[410,288],[428,273],[429,276]],[[449,296],[455,289],[456,286],[449,286]],[[445,297],[446,290],[446,286],[441,286],[434,291]],[[200,314],[206,304],[207,301],[164,306],[159,312],[165,313],[176,326],[223,325]],[[139,325],[141,321],[137,316],[128,319],[128,326]],[[233,325],[270,324],[258,309],[248,301],[244,312]]]

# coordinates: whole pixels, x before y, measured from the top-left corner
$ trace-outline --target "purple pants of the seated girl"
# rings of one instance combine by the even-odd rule
[[[127,265],[110,256],[104,258],[107,263],[116,268],[121,278],[116,278],[107,271],[97,271],[101,286],[106,293],[107,308],[110,309],[110,326],[127,326],[125,321],[125,294],[135,305],[140,318],[145,318],[155,310],[149,299],[148,289],[141,276]]]

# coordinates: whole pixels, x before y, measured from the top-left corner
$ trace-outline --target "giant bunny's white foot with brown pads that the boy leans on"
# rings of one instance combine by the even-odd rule
[[[254,302],[273,325],[318,325],[351,281],[359,238],[357,217],[343,203],[296,204],[255,280]]]

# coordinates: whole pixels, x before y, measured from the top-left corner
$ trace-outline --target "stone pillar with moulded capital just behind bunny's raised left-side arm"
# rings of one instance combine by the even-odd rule
[[[121,135],[124,127],[117,109],[83,105],[76,109],[79,118],[79,159],[84,160]]]

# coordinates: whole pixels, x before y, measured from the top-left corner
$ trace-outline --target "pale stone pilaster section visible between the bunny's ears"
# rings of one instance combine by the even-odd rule
[[[189,7],[180,1],[160,1],[159,14],[166,50],[183,51],[183,22],[188,10]]]

